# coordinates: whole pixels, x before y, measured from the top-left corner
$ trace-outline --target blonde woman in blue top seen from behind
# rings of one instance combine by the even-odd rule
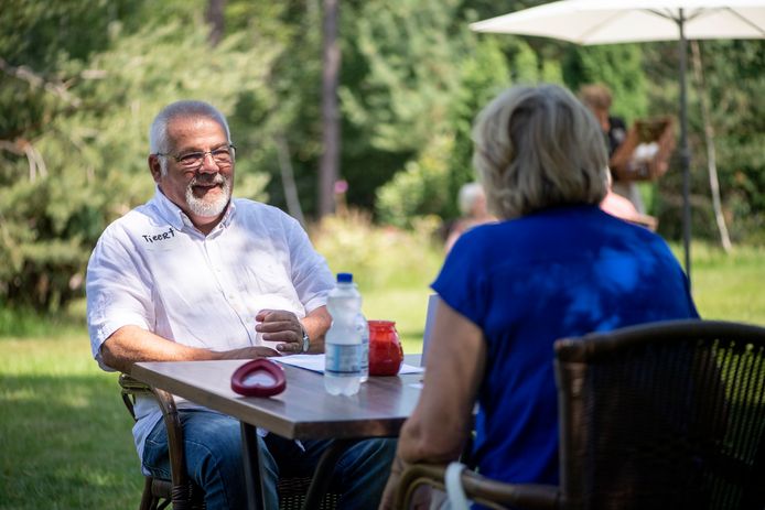
[[[381,508],[409,463],[472,459],[507,482],[558,484],[556,339],[698,317],[661,238],[599,208],[600,126],[557,85],[513,87],[478,115],[474,165],[499,221],[465,232],[432,287],[440,301],[417,409]]]

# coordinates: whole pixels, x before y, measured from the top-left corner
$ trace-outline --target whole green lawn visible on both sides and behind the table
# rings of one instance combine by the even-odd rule
[[[694,246],[693,295],[704,318],[765,325],[765,250]],[[418,352],[427,282],[363,289],[367,318],[397,322]],[[0,337],[0,509],[136,509],[142,479],[117,376],[90,359],[82,303],[68,319]],[[1,318],[1,317],[0,317]]]

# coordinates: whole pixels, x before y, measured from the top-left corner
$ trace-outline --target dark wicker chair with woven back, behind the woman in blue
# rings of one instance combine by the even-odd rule
[[[461,476],[517,509],[765,508],[765,328],[671,321],[554,345],[559,487]],[[398,508],[445,466],[412,465]]]

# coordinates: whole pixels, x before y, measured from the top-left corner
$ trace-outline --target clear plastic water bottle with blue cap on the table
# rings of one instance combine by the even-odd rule
[[[358,392],[362,381],[362,294],[353,274],[337,273],[337,284],[330,291],[326,307],[332,326],[324,340],[324,388],[333,395],[352,395]]]

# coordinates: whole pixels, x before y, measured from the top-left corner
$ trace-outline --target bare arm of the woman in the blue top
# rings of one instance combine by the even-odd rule
[[[392,508],[398,477],[407,464],[454,460],[471,432],[486,362],[482,330],[439,300],[427,359],[422,394],[401,428],[382,509]]]

